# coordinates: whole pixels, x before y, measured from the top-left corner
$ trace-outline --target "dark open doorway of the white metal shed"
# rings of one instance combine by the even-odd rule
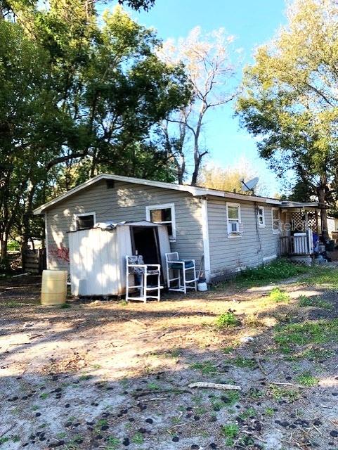
[[[157,230],[152,226],[132,226],[133,255],[143,256],[145,264],[161,264]]]

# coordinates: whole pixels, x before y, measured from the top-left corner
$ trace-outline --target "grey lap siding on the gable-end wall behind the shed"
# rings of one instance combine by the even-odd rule
[[[171,243],[171,250],[199,262],[203,252],[200,199],[190,193],[122,181],[107,188],[105,181],[100,181],[48,210],[49,269],[69,269],[63,257],[67,250],[60,255],[60,248],[68,248],[67,231],[74,230],[75,214],[95,212],[96,221],[138,221],[145,220],[146,206],[165,203],[175,204],[176,243]]]

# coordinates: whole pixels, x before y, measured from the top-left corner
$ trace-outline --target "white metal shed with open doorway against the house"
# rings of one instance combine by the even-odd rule
[[[70,231],[72,295],[123,295],[126,255],[143,255],[145,264],[165,267],[170,252],[167,227],[149,221],[105,221],[91,229]],[[162,271],[162,278],[165,270]]]

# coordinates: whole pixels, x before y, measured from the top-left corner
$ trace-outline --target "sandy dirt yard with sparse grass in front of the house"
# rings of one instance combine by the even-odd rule
[[[0,450],[338,449],[337,328],[291,354],[275,338],[337,317],[336,290],[291,282],[273,302],[271,285],[229,285],[61,309],[41,307],[39,286],[0,281]],[[229,309],[239,322],[216,327]],[[241,390],[188,387],[200,381]]]

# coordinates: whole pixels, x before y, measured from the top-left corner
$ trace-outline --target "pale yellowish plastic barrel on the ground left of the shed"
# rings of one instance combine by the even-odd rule
[[[67,271],[44,270],[41,283],[41,304],[63,304],[67,297]]]

